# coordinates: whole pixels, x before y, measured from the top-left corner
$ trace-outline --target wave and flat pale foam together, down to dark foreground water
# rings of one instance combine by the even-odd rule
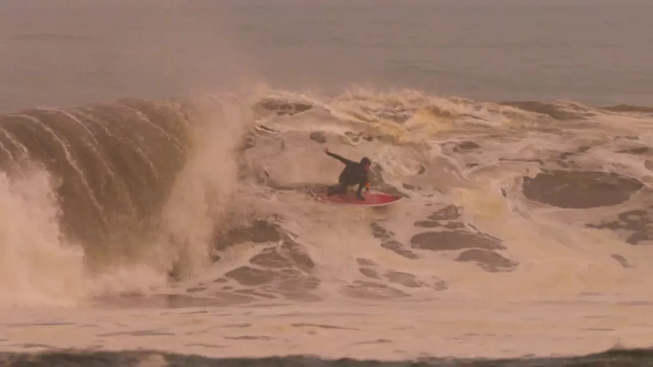
[[[652,131],[651,108],[355,88],[6,114],[0,346],[375,360],[650,347]],[[342,169],[325,147],[370,157],[372,190],[404,199],[318,202]],[[172,363],[142,353],[116,365]]]

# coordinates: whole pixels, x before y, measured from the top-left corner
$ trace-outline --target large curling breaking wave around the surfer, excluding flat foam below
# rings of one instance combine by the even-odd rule
[[[236,305],[643,297],[653,110],[419,91],[0,116],[0,299]],[[400,204],[312,199],[374,162]],[[148,303],[150,302],[150,303]]]

